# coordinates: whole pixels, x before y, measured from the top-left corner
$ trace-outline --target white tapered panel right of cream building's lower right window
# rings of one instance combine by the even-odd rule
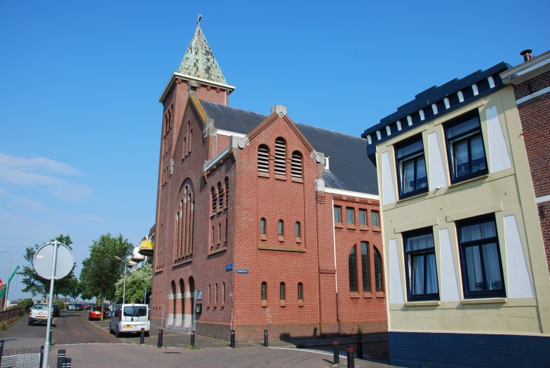
[[[508,297],[535,297],[515,214],[504,216],[504,241],[506,243]]]

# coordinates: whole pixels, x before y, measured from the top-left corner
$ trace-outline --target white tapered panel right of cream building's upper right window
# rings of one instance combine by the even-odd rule
[[[487,114],[487,130],[489,135],[490,172],[497,172],[512,167],[510,154],[502,132],[502,125],[498,116],[497,107],[489,107]]]

